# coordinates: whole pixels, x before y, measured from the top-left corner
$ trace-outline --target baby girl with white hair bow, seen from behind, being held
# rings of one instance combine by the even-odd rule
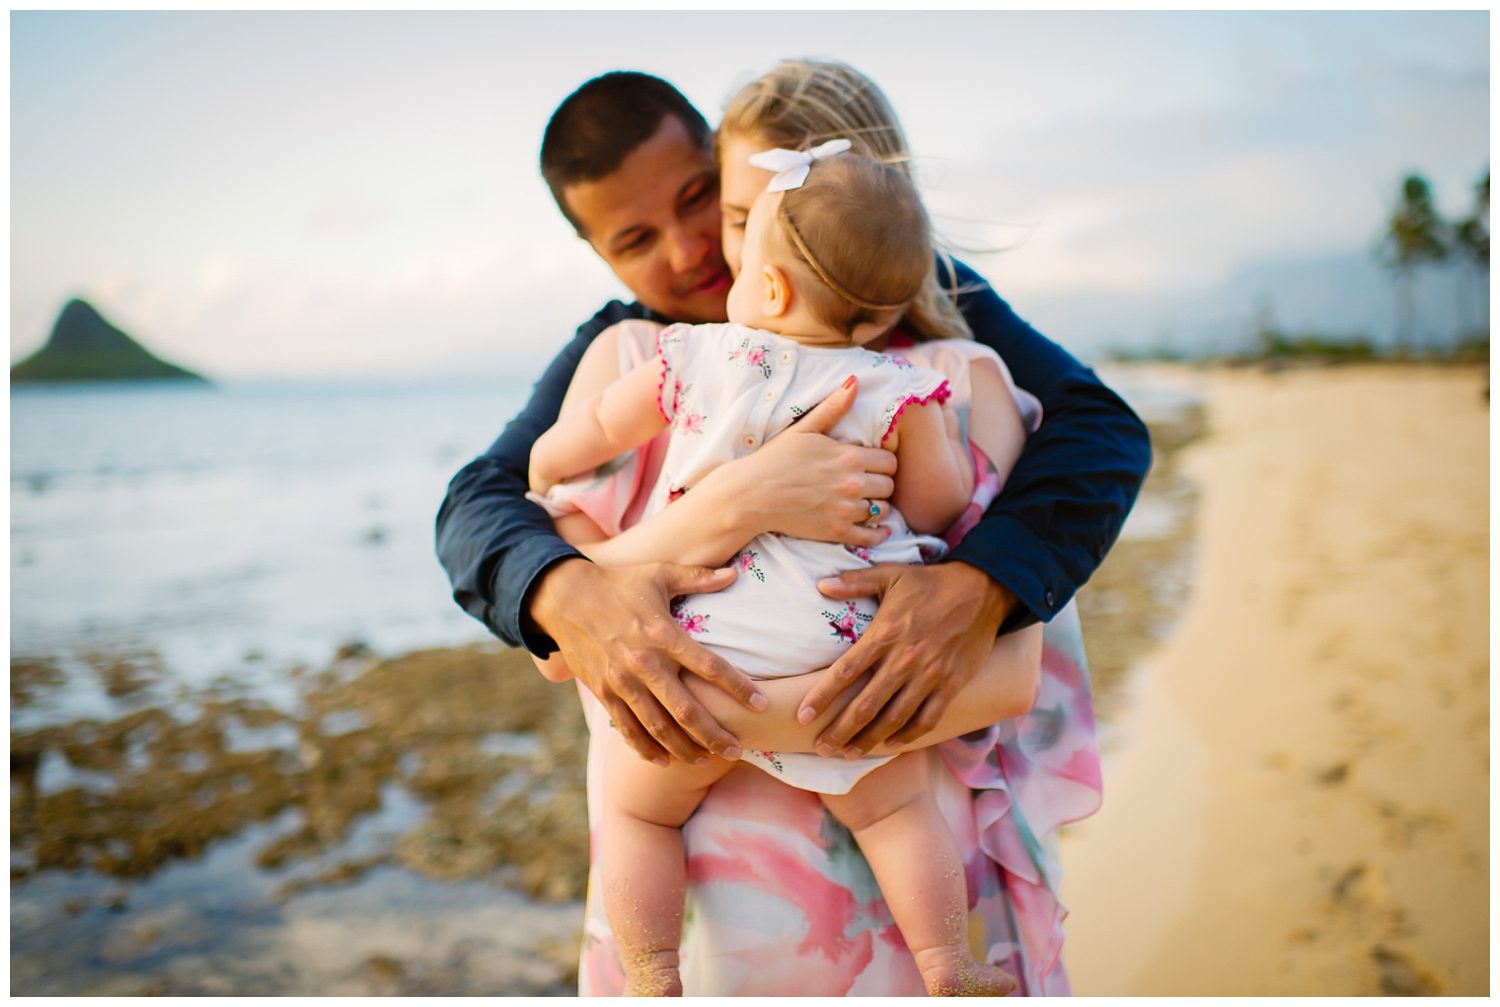
[[[936,558],[945,546],[934,536],[963,513],[974,489],[957,422],[940,408],[948,396],[942,375],[864,348],[930,282],[934,258],[927,215],[906,176],[848,150],[849,141],[834,140],[810,152],[752,158],[780,174],[746,221],[730,321],[662,330],[654,359],[564,413],[531,452],[532,491],[561,500],[561,480],[670,428],[646,504],[654,513],[837,387],[858,386],[832,437],[896,453],[891,506],[885,513],[870,506],[872,521],[890,528],[886,540],[852,549],[765,534],[740,552],[729,588],[674,608],[684,630],[756,678],[831,665],[858,639],[876,602],[831,602],[818,581]],[[734,764],[660,767],[618,737],[608,744],[598,870],[626,993],[680,993],[681,825]],[[850,830],[928,993],[1002,995],[1014,987],[1006,972],[969,950],[963,869],[928,788],[926,752],[860,759],[747,752],[746,759],[818,792]]]

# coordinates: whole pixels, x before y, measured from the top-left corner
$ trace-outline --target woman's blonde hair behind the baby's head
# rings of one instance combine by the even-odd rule
[[[746,84],[724,107],[714,138],[722,153],[724,135],[750,137],[768,147],[804,150],[848,137],[854,150],[910,177],[912,155],[891,102],[860,71],[832,60],[783,60]],[[904,321],[922,339],[972,339],[958,314],[957,276],[946,252],[934,249],[946,287],[934,269],[906,309]]]

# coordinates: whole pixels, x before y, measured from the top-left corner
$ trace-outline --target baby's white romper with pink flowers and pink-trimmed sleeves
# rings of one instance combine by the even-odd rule
[[[852,374],[860,392],[831,437],[876,447],[914,402],[942,402],[948,383],[934,371],[858,347],[804,347],[774,332],[736,324],[670,326],[657,336],[657,405],[672,425],[648,513],[728,461],[748,455],[838,389]],[[759,536],[734,563],[740,576],[716,594],[678,599],[674,615],[694,639],[756,678],[826,668],[874,617],[874,599],[836,602],[816,582],[876,563],[922,563],[946,551],[906,527],[892,507],[891,537],[872,549]],[[844,794],[886,759],[746,752],[746,759],[794,786]]]

